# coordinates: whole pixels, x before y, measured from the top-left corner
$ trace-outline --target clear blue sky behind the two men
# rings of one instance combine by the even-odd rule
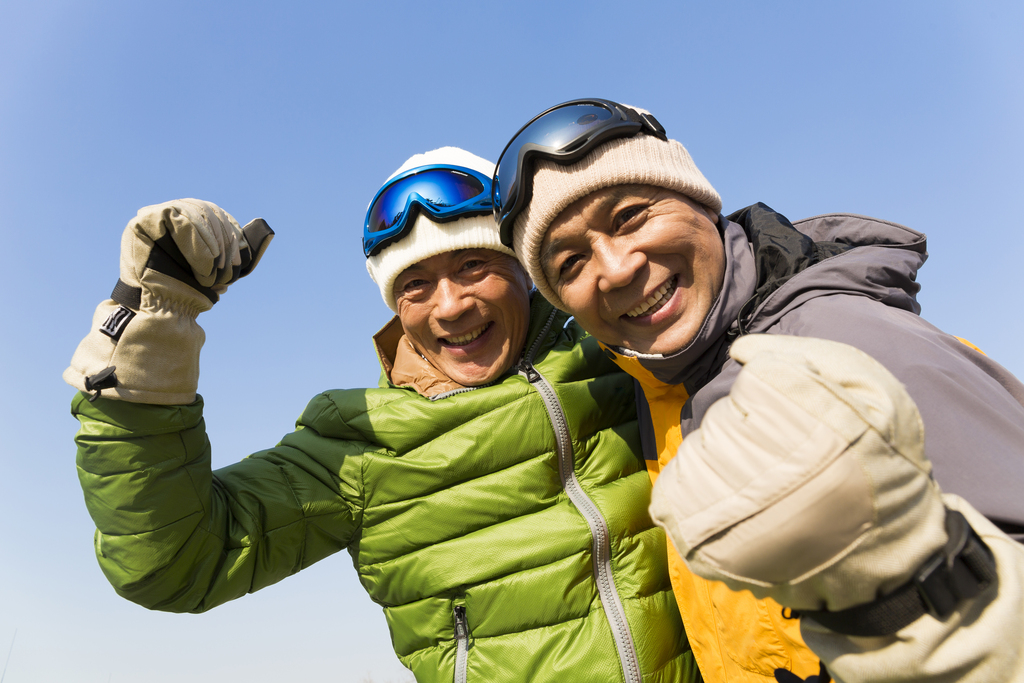
[[[344,554],[201,615],[117,597],[60,373],[142,206],[213,201],[276,240],[200,323],[216,466],[316,392],[377,381],[367,202],[412,154],[493,159],[546,106],[652,111],[725,210],[929,234],[924,315],[1024,376],[1020,2],[0,4],[0,656],[5,683],[406,681]],[[1018,207],[1018,208],[1014,208]]]

